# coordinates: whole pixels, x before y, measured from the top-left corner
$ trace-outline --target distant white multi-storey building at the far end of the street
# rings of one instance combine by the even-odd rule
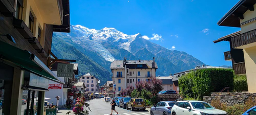
[[[90,73],[79,76],[79,82],[83,82],[86,85],[87,93],[96,93],[98,91],[98,79]]]

